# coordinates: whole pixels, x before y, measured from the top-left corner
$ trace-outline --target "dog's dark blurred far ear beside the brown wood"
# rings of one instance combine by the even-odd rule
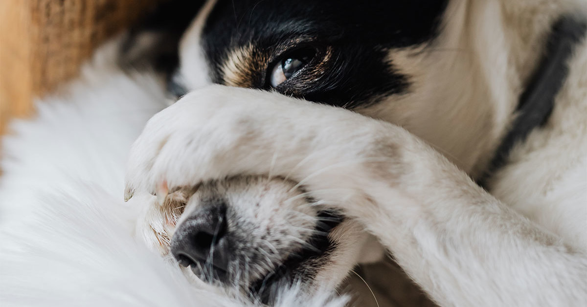
[[[170,75],[177,68],[181,36],[204,0],[164,0],[127,31],[120,43],[123,69],[154,69]]]

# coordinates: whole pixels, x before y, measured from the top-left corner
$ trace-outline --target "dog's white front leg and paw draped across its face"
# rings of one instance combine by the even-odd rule
[[[400,127],[212,86],[150,120],[127,196],[234,174],[292,178],[356,217],[444,306],[579,306],[587,258],[510,210]],[[159,189],[161,190],[161,189]],[[163,189],[165,190],[165,189]]]

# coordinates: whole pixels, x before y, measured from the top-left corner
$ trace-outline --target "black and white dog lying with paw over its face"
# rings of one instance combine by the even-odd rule
[[[137,231],[264,302],[391,255],[441,306],[585,305],[586,10],[172,1],[120,49],[180,97],[131,149]]]

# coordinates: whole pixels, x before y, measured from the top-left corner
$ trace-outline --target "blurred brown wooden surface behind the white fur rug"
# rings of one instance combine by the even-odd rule
[[[0,134],[161,0],[0,0]]]

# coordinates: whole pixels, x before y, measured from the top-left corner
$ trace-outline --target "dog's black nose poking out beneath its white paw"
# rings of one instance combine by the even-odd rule
[[[230,261],[226,208],[223,203],[197,208],[171,238],[171,254],[181,265],[221,282],[227,281]]]

